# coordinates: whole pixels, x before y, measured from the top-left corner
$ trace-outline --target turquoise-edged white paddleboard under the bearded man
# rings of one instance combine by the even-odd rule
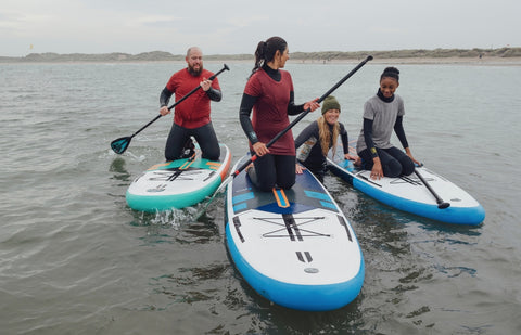
[[[201,150],[189,158],[152,166],[127,190],[127,204],[141,211],[180,209],[211,196],[228,175],[231,154],[220,144],[219,160],[201,158]]]

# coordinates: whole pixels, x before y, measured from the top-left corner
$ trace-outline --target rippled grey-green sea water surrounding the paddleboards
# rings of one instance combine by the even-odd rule
[[[352,139],[385,67],[374,62],[333,93]],[[236,162],[247,150],[238,108],[253,64],[227,64],[213,120]],[[289,63],[296,102],[355,65]],[[0,64],[2,334],[521,332],[521,66],[397,66],[412,154],[473,195],[486,219],[423,219],[327,176],[366,262],[360,295],[331,312],[275,306],[244,282],[227,255],[221,195],[199,219],[200,207],[144,215],[126,206],[131,180],[164,160],[171,116],[124,155],[110,143],[157,115],[161,90],[183,66]]]

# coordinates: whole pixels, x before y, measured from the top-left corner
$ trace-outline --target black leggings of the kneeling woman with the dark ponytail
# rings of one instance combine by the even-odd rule
[[[295,184],[295,156],[267,154],[253,162],[255,168],[247,169],[247,176],[260,191],[269,192],[276,185],[288,190]]]

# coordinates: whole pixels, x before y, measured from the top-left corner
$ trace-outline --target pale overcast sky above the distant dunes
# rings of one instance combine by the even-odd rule
[[[521,0],[1,0],[0,55],[521,47]]]

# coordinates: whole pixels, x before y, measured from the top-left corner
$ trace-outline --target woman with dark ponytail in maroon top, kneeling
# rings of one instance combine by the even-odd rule
[[[291,129],[269,149],[266,143],[290,125],[288,115],[313,112],[320,106],[318,99],[295,105],[291,75],[281,69],[289,57],[288,43],[282,38],[260,41],[242,94],[239,119],[252,155],[258,157],[246,171],[262,191],[271,191],[276,185],[290,189],[295,183],[295,142]]]

